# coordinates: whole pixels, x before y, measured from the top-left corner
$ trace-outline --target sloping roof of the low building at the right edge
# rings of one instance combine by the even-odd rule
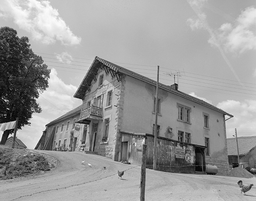
[[[237,137],[239,155],[246,155],[256,146],[256,136]],[[237,155],[236,138],[227,139],[228,155]]]

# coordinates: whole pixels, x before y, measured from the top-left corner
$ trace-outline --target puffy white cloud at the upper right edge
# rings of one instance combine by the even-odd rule
[[[256,8],[247,7],[235,20],[234,24],[225,23],[216,31],[216,38],[224,49],[243,53],[256,49]],[[212,40],[209,40],[214,44]]]

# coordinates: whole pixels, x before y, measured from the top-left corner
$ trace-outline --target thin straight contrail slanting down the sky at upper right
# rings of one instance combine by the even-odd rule
[[[234,68],[230,64],[228,58],[226,57],[223,49],[220,47],[220,44],[216,40],[215,34],[213,33],[213,29],[209,26],[209,24],[206,21],[206,15],[202,11],[200,11],[200,8],[199,8],[200,4],[202,5],[205,2],[205,0],[199,0],[199,1],[198,0],[187,0],[187,2],[189,3],[189,5],[193,9],[193,11],[196,13],[198,18],[200,19],[200,21],[202,23],[202,27],[204,27],[204,29],[206,29],[206,31],[208,31],[209,35],[211,36],[211,40],[214,42],[215,46],[219,49],[222,58],[224,59],[224,61],[226,62],[226,64],[228,65],[228,67],[230,68],[232,73],[234,74],[234,76],[237,79],[237,81],[239,82],[239,84],[241,86],[244,86],[243,83],[241,82],[241,80],[239,79],[238,75],[236,74]]]

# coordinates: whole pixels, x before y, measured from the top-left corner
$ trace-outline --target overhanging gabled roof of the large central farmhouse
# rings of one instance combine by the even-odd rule
[[[89,68],[89,70],[86,73],[84,79],[82,80],[82,83],[80,84],[80,86],[78,87],[78,89],[77,89],[77,91],[74,95],[75,98],[82,99],[82,97],[85,95],[86,90],[90,86],[94,75],[97,74],[99,68],[101,68],[102,65],[107,66],[107,68],[112,69],[116,73],[121,73],[121,74],[124,74],[124,75],[127,75],[127,76],[131,76],[131,77],[134,77],[136,79],[147,82],[149,84],[155,85],[155,86],[157,85],[157,82],[155,80],[149,79],[148,77],[145,77],[143,75],[140,75],[138,73],[130,71],[126,68],[123,68],[121,66],[113,64],[111,62],[108,62],[107,60],[104,60],[102,58],[95,57],[91,67]],[[159,88],[161,88],[163,90],[166,90],[166,91],[169,91],[171,93],[174,93],[176,95],[179,95],[179,96],[181,96],[185,99],[189,99],[189,100],[191,100],[193,102],[196,102],[198,104],[204,105],[204,106],[206,106],[208,108],[211,108],[215,111],[219,111],[220,113],[223,113],[224,115],[228,115],[229,117],[233,117],[233,115],[230,115],[229,113],[227,113],[227,112],[225,112],[225,111],[223,111],[223,110],[221,110],[221,109],[219,109],[219,108],[217,108],[217,107],[215,107],[215,106],[213,106],[213,105],[211,105],[211,104],[209,104],[209,103],[207,103],[207,102],[205,102],[201,99],[195,98],[191,95],[188,95],[188,94],[183,93],[181,91],[175,90],[175,89],[171,88],[170,86],[159,83]]]

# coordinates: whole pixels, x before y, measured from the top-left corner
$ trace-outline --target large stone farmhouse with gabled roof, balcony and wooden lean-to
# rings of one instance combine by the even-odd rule
[[[55,120],[56,124],[47,124],[57,130],[55,137],[49,140],[52,141],[50,149],[62,142],[65,146],[71,142],[76,147],[72,150],[97,152],[114,161],[139,164],[141,145],[152,142],[154,137],[155,104],[158,102],[157,140],[162,149],[159,157],[164,157],[164,150],[170,152],[169,162],[162,162],[173,166],[187,164],[193,171],[205,171],[206,164],[212,164],[220,172],[227,172],[225,121],[233,116],[179,91],[178,84],[159,83],[156,100],[156,84],[154,80],[95,57],[74,95],[82,100],[80,114],[61,119],[62,123]],[[73,124],[67,129],[68,121],[69,125]],[[69,136],[69,129],[74,130],[76,124],[77,134]],[[57,137],[60,130],[67,131],[61,140]],[[51,132],[47,128],[46,133]],[[50,134],[47,136],[45,141]],[[74,136],[77,137],[75,144],[70,138]],[[148,152],[150,156],[153,150],[149,148]],[[159,161],[159,167],[162,162]],[[150,159],[147,163],[151,163]]]

